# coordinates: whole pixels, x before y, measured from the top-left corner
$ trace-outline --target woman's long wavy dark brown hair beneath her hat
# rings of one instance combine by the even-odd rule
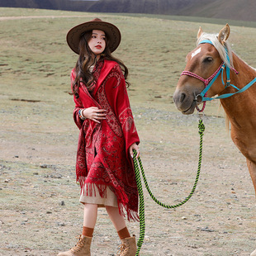
[[[80,87],[80,83],[84,83],[87,88],[90,88],[94,82],[94,77],[92,73],[89,71],[90,67],[93,64],[96,64],[96,56],[92,53],[88,45],[88,41],[92,38],[92,31],[85,32],[79,42],[79,57],[78,61],[75,65],[75,79],[72,85],[72,93],[71,95],[75,95],[75,97],[79,97],[78,89]],[[108,39],[106,35],[106,47],[105,50],[102,52],[101,58],[107,60],[114,60],[116,63],[120,64],[121,70],[124,73],[125,79],[128,77],[128,69],[125,64],[120,59],[116,59],[111,55],[111,51],[108,47]],[[126,81],[127,88],[130,86],[130,83]]]

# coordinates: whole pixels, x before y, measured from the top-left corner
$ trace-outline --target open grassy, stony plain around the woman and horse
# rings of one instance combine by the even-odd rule
[[[93,17],[121,30],[115,55],[130,70],[130,103],[152,189],[171,204],[186,197],[192,186],[197,116],[182,116],[172,95],[185,57],[196,46],[199,26],[217,33],[225,24],[0,8],[2,255],[55,255],[69,249],[81,230],[73,170],[78,130],[68,94],[77,56],[65,36],[72,26]],[[255,40],[254,27],[231,26],[233,50],[254,67]],[[254,189],[244,158],[225,132],[218,105],[206,106],[203,174],[192,201],[166,211],[145,196],[142,256],[245,256],[256,249]],[[130,230],[139,235],[136,223]],[[106,213],[100,211],[93,254],[112,255],[118,243]]]

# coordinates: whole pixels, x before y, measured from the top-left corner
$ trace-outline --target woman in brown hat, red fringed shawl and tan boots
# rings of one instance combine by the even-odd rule
[[[73,27],[69,47],[79,55],[71,72],[75,102],[73,119],[80,133],[76,173],[84,204],[83,233],[78,244],[59,256],[90,254],[97,207],[105,206],[121,239],[119,255],[134,256],[135,236],[124,219],[138,220],[138,191],[132,166],[133,149],[139,152],[139,136],[126,91],[128,69],[111,56],[121,33],[100,19]]]

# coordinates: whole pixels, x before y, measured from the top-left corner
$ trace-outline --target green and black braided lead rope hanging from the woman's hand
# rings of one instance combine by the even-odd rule
[[[202,154],[202,136],[203,136],[203,132],[205,130],[205,126],[202,123],[201,119],[199,120],[198,129],[199,129],[198,133],[200,135],[200,146],[199,146],[199,160],[198,160],[198,168],[197,168],[197,177],[196,177],[194,186],[192,187],[192,191],[190,192],[188,197],[186,197],[183,201],[181,201],[177,205],[168,206],[168,205],[162,203],[161,201],[159,201],[156,197],[154,197],[153,193],[149,189],[148,182],[145,178],[145,172],[144,172],[140,157],[137,159],[136,158],[137,152],[135,150],[133,151],[134,152],[133,161],[134,161],[134,166],[135,166],[135,178],[136,178],[136,183],[137,183],[139,198],[140,198],[140,209],[139,209],[139,211],[140,211],[139,212],[139,214],[140,214],[140,239],[137,242],[137,252],[136,252],[135,256],[140,254],[140,248],[141,248],[144,238],[145,238],[145,205],[144,205],[143,189],[142,189],[142,184],[141,184],[141,180],[140,180],[140,171],[141,171],[144,183],[145,183],[145,187],[147,188],[147,191],[149,192],[150,197],[157,204],[159,204],[159,206],[163,206],[164,208],[167,208],[167,209],[177,208],[178,206],[182,206],[185,202],[187,202],[192,197],[192,194],[195,192],[196,187],[197,187],[197,182],[199,179],[199,175],[200,175],[201,154]],[[140,164],[140,167],[138,165],[138,162]]]

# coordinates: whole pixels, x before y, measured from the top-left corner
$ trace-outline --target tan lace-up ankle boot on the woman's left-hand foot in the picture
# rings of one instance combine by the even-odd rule
[[[87,237],[82,235],[79,236],[78,244],[69,251],[64,253],[59,253],[58,256],[91,256],[91,247],[92,237]]]

